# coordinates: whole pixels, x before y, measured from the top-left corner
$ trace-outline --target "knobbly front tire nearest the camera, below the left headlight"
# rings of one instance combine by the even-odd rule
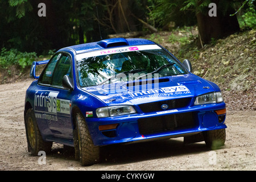
[[[82,166],[90,166],[99,162],[100,148],[98,146],[94,146],[82,113],[76,114],[74,144],[76,159],[80,160]]]

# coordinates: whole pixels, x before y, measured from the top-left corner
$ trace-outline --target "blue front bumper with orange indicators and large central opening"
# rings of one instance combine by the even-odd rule
[[[109,118],[86,118],[93,143],[102,146],[145,139],[175,138],[225,129],[224,102]]]

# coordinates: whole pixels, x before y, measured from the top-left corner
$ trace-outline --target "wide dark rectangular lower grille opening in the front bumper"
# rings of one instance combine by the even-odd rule
[[[162,133],[164,131],[174,131],[189,129],[195,126],[193,113],[181,113],[163,115],[160,117],[138,119],[139,133],[141,135]]]

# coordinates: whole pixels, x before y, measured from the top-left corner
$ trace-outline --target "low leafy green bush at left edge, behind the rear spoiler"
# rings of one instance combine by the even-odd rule
[[[19,52],[17,49],[1,49],[0,68],[9,69],[12,66],[19,67],[21,70],[31,66],[37,58],[35,52]]]

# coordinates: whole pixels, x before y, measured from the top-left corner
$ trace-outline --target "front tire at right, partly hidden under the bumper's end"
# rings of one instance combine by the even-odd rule
[[[226,141],[226,130],[210,130],[204,131],[204,140],[207,147],[212,150],[217,149],[218,147],[224,146]]]

